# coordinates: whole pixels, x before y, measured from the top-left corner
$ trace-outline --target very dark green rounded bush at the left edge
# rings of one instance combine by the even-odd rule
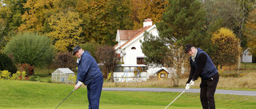
[[[0,71],[7,70],[11,72],[11,75],[17,72],[14,62],[6,55],[6,53],[0,53],[0,59]]]

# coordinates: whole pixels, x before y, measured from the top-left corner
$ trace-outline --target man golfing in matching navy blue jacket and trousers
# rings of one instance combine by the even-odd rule
[[[78,57],[78,76],[74,89],[80,88],[82,83],[87,85],[89,109],[98,109],[103,84],[102,72],[94,57],[79,46],[74,47],[73,55]]]

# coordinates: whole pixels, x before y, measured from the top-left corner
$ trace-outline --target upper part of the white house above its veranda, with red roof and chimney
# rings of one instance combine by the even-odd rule
[[[142,53],[140,40],[143,41],[144,31],[158,36],[156,25],[152,25],[150,18],[143,22],[143,28],[138,30],[118,29],[116,40],[118,45],[114,46],[116,53],[122,57],[123,64],[144,64],[144,53]]]

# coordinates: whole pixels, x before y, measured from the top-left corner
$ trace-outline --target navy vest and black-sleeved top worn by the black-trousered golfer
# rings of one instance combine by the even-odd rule
[[[190,57],[190,78],[187,83],[190,83],[190,80],[197,80],[198,76],[202,78],[202,80],[207,80],[214,74],[218,73],[217,68],[215,67],[213,61],[210,59],[210,56],[202,49],[198,49],[197,56],[194,61]]]

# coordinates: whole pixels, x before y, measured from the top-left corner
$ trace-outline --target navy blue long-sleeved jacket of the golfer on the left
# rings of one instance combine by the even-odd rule
[[[81,59],[78,60],[77,65],[77,82],[81,81],[83,84],[87,85],[90,84],[92,80],[102,76],[102,72],[100,68],[98,68],[96,60],[94,60],[94,57],[87,51],[82,53]]]

